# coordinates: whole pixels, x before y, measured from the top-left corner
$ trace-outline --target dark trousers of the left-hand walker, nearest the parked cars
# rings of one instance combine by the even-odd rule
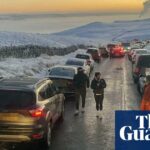
[[[76,90],[76,110],[79,110],[80,97],[82,98],[82,108],[85,107],[86,89]]]

